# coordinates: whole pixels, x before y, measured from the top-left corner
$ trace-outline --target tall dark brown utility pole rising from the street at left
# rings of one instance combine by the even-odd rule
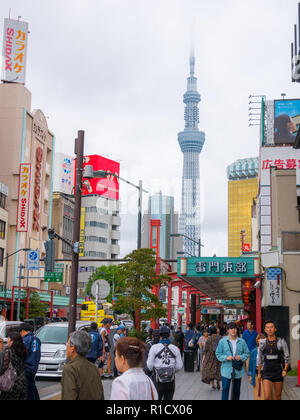
[[[80,238],[80,216],[81,216],[81,195],[82,195],[82,174],[84,155],[84,131],[78,131],[78,138],[75,140],[76,184],[75,184],[75,205],[74,205],[74,229],[73,229],[73,252],[71,290],[69,304],[69,335],[76,329],[76,307],[77,307],[77,286],[79,269],[79,238]]]

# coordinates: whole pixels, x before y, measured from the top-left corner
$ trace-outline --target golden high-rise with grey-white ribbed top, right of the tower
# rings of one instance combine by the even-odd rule
[[[239,159],[227,167],[229,257],[241,255],[241,231],[253,250],[251,209],[258,194],[258,166],[258,158],[250,158]]]

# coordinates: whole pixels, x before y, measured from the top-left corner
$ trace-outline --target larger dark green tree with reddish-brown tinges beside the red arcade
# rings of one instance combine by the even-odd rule
[[[139,333],[141,320],[166,316],[167,310],[152,293],[152,288],[162,285],[168,277],[156,277],[156,255],[152,249],[135,250],[125,257],[125,261],[119,266],[119,274],[125,282],[128,296],[119,297],[113,309],[130,314]]]

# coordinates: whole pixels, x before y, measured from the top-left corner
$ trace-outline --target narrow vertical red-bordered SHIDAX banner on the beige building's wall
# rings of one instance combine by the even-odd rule
[[[31,164],[20,164],[17,232],[28,232],[31,185]]]

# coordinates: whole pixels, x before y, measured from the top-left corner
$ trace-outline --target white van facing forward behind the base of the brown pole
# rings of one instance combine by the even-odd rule
[[[91,322],[77,321],[76,330],[89,332]],[[61,378],[66,364],[66,343],[68,341],[68,323],[55,322],[44,325],[36,336],[41,341],[41,360],[37,377]]]

